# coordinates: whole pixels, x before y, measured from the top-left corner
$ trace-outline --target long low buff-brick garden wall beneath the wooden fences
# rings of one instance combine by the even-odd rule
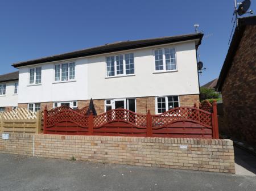
[[[34,147],[33,147],[34,145]],[[180,145],[188,148],[180,148]],[[228,139],[10,134],[0,152],[57,159],[234,173]]]

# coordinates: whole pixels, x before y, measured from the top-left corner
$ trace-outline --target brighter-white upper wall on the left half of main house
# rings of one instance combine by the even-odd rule
[[[48,101],[82,100],[88,97],[88,80],[86,59],[73,60],[76,62],[76,79],[72,82],[54,82],[55,63],[37,65],[42,67],[42,83],[29,85],[29,68],[19,69],[19,103],[42,103]],[[66,63],[66,62],[56,62]],[[32,66],[31,66],[32,67]],[[34,66],[35,67],[35,66]]]

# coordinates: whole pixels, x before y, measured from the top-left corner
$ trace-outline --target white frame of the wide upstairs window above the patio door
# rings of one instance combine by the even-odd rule
[[[133,54],[133,66],[134,66],[134,73],[133,74],[126,74],[126,63],[125,63],[125,55],[126,54]],[[114,57],[114,75],[109,75],[108,76],[108,69],[107,69],[107,57]],[[117,74],[117,56],[122,56],[123,57],[123,74]],[[115,55],[108,55],[105,58],[105,63],[106,63],[106,78],[113,78],[113,77],[126,77],[130,75],[135,75],[135,57],[134,53],[125,53],[125,54],[115,54]]]

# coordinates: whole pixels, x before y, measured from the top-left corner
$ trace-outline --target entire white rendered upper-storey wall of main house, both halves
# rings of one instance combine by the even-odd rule
[[[177,71],[154,73],[153,52],[174,47]],[[106,78],[106,56],[134,53],[135,75]],[[77,58],[76,81],[54,83],[54,64],[42,65],[42,84],[29,86],[29,68],[19,69],[18,103],[199,94],[195,41]],[[71,62],[71,61],[69,61]],[[32,67],[32,66],[31,66]]]

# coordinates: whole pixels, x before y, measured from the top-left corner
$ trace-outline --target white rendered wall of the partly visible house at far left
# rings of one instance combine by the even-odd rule
[[[6,95],[0,96],[0,107],[16,107],[18,106],[18,95],[14,95],[14,83],[12,82],[3,82],[0,84],[6,84]],[[19,93],[19,88],[18,88]]]

